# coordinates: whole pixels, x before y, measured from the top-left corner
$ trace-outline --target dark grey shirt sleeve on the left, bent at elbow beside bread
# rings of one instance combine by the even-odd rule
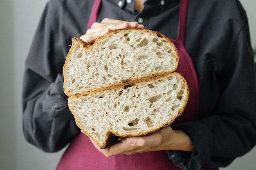
[[[56,152],[80,130],[63,93],[62,68],[66,54],[61,49],[49,6],[48,2],[25,62],[22,121],[28,142],[45,152]]]

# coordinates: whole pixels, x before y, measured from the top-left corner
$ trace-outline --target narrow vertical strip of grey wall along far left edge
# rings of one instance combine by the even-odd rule
[[[11,48],[14,30],[12,8],[12,0],[0,2],[0,169],[3,169],[1,166],[8,165],[10,170],[15,170],[17,159],[15,157],[14,53]]]

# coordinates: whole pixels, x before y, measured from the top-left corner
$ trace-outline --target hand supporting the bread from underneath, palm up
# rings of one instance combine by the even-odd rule
[[[194,149],[193,142],[186,133],[180,130],[173,130],[170,126],[144,137],[122,139],[120,143],[106,149],[100,149],[96,142],[92,139],[91,141],[94,147],[106,157],[118,154],[132,155],[135,153],[159,150],[192,151]]]

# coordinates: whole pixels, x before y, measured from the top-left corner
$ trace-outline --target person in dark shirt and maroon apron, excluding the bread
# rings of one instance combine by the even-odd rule
[[[76,125],[63,66],[73,37],[94,44],[128,28],[158,31],[173,42],[189,99],[170,126],[102,149]],[[70,144],[56,170],[226,167],[256,144],[256,71],[245,10],[238,0],[49,0],[25,63],[22,99],[29,143],[45,152]]]

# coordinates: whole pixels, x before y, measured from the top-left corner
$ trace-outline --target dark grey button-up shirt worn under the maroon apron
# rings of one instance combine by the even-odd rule
[[[140,21],[175,39],[179,0],[102,0],[97,21]],[[25,63],[23,130],[31,144],[56,152],[80,132],[63,93],[62,68],[71,38],[86,32],[93,0],[49,0]],[[121,4],[121,6],[119,5]],[[186,132],[193,152],[168,150],[186,170],[229,165],[256,144],[256,74],[246,13],[238,0],[190,0],[184,46],[199,83],[198,120],[172,126]]]

